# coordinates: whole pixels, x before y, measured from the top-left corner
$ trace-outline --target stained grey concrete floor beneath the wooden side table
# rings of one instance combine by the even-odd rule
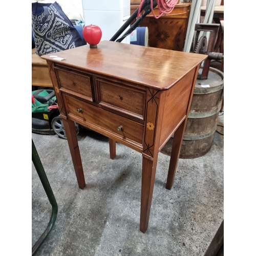
[[[224,115],[220,113],[220,125]],[[221,126],[217,131],[223,133]],[[159,153],[150,222],[139,230],[142,157],[108,139],[78,135],[87,186],[78,188],[68,142],[57,135],[32,139],[58,204],[55,225],[36,255],[204,255],[223,220],[223,140],[215,133],[211,150],[179,159],[174,186],[165,188],[169,156]],[[32,164],[32,246],[44,232],[51,205]]]

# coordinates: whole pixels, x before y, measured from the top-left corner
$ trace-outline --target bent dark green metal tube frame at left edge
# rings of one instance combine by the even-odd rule
[[[51,232],[51,230],[54,226],[54,223],[57,218],[57,213],[58,213],[58,205],[57,205],[56,199],[54,197],[50,183],[48,181],[48,178],[46,176],[45,169],[42,166],[41,160],[37,154],[33,140],[32,140],[32,161],[34,163],[36,172],[40,178],[42,186],[44,187],[44,189],[46,191],[46,195],[52,205],[52,215],[51,215],[51,219],[48,223],[48,226],[47,226],[46,230],[44,231],[44,233],[41,234],[40,238],[36,241],[36,243],[32,247],[32,256],[33,256],[33,255],[35,255],[37,250],[40,248],[42,243],[45,242],[46,238],[48,237],[49,233]]]

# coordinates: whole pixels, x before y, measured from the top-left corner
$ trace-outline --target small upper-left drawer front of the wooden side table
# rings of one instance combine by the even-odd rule
[[[75,71],[69,72],[61,69],[56,69],[56,71],[61,88],[79,93],[82,96],[89,97],[92,100],[92,76],[86,74],[78,74]]]

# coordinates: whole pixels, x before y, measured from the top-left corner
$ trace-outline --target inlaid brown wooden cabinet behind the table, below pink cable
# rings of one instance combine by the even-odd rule
[[[140,1],[131,1],[131,14],[139,7]],[[167,15],[156,19],[148,14],[140,27],[148,28],[148,46],[183,51],[189,18],[190,3],[177,4]],[[158,16],[158,7],[154,9]]]

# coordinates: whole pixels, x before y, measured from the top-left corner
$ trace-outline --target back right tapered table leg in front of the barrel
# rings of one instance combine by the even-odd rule
[[[181,145],[182,145],[182,139],[185,132],[185,124],[186,124],[186,119],[183,120],[183,122],[180,124],[180,126],[178,127],[178,129],[174,134],[172,152],[170,154],[168,176],[166,181],[167,189],[171,189],[173,186],[174,176],[176,173],[176,167],[178,164]]]

